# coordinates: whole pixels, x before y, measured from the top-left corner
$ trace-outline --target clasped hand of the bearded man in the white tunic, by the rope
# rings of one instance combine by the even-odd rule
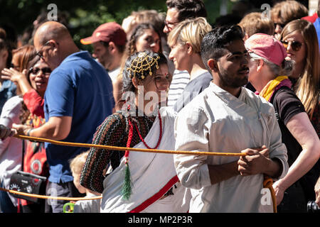
[[[269,148],[247,148],[241,153],[247,153],[238,160],[238,171],[242,176],[257,175],[266,172]]]

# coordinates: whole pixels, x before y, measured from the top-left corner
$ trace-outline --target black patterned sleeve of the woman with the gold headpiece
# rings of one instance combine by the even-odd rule
[[[126,131],[126,121],[122,114],[112,114],[97,128],[92,139],[92,144],[97,145],[119,145]],[[114,155],[116,153],[116,155]],[[112,156],[120,159],[119,151],[91,148],[87,160],[82,169],[80,184],[94,192],[103,191],[103,172],[107,164],[112,161]]]

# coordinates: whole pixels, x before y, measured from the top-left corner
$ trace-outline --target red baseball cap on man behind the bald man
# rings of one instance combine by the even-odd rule
[[[115,45],[125,45],[127,42],[127,35],[119,23],[108,22],[97,27],[90,37],[82,38],[80,40],[83,45],[88,45],[99,41],[106,43],[111,41]]]

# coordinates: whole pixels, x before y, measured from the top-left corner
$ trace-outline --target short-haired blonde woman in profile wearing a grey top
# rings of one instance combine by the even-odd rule
[[[206,69],[200,55],[201,41],[211,29],[206,18],[199,17],[182,21],[169,33],[169,58],[174,61],[176,70],[186,70],[190,74],[190,82],[174,104],[175,111],[180,111],[186,106],[206,89],[212,80],[212,75]]]

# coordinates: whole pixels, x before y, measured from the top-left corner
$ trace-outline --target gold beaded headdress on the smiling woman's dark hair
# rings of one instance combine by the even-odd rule
[[[151,76],[151,67],[154,64],[156,64],[156,69],[159,69],[159,59],[159,55],[156,57],[151,57],[147,55],[146,52],[140,52],[139,55],[136,58],[134,58],[134,60],[132,60],[130,67],[127,68],[127,71],[129,72],[129,77],[132,79],[136,76],[137,73],[141,74],[141,77],[138,77],[138,79],[144,79],[145,76],[147,76],[148,74]],[[145,73],[148,71],[149,73]]]

